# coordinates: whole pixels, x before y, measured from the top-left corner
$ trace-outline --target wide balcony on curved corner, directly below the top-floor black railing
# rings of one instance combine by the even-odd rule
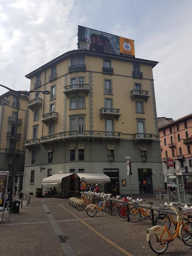
[[[89,94],[89,84],[70,84],[70,85],[66,85],[64,86],[64,94],[67,96],[67,98],[69,97],[70,93],[86,93],[86,95],[88,96]]]

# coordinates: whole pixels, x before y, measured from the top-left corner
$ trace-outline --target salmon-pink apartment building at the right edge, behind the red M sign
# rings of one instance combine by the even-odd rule
[[[175,121],[160,117],[158,124],[164,175],[170,172],[192,172],[192,114]],[[174,160],[173,167],[167,167],[167,159]]]

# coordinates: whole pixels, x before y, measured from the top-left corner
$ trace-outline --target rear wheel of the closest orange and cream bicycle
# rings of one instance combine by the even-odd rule
[[[151,250],[154,251],[157,254],[162,254],[167,250],[169,243],[168,241],[160,242],[158,241],[158,237],[156,234],[151,234],[150,240],[149,240],[149,246],[151,247]]]

